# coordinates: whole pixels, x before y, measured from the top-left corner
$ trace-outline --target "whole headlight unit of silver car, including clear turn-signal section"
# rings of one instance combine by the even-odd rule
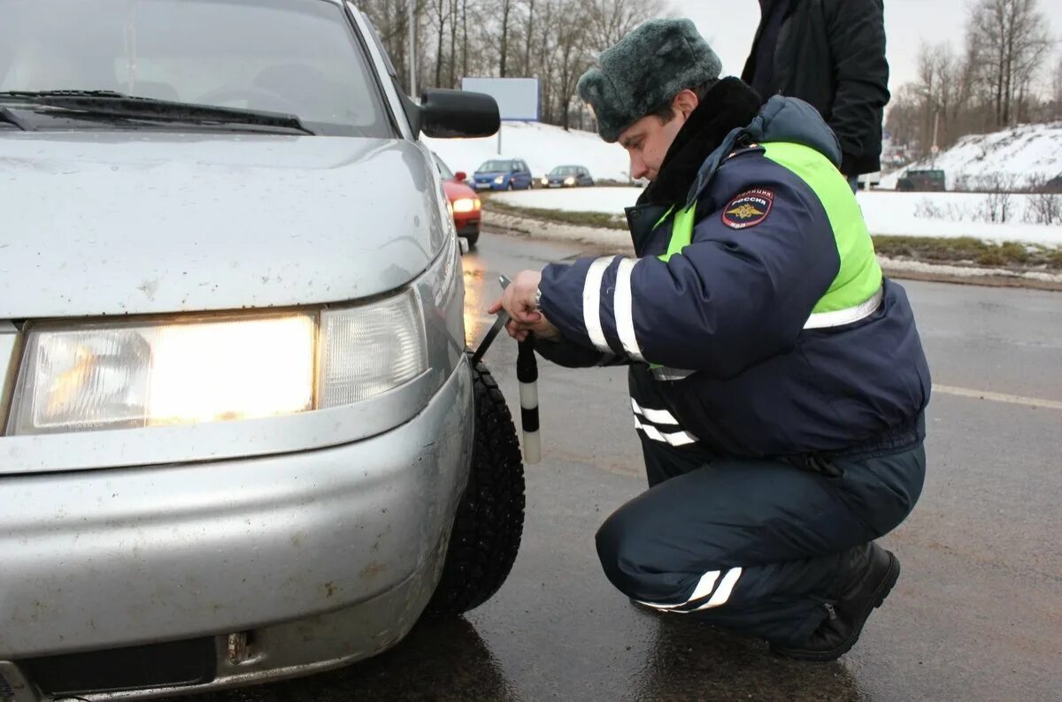
[[[320,313],[41,327],[27,337],[7,433],[291,415],[375,397],[426,369],[412,292]]]

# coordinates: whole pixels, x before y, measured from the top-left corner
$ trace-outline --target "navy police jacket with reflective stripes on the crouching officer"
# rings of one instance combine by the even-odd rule
[[[693,112],[628,212],[639,258],[544,269],[542,310],[565,340],[539,353],[572,367],[630,364],[635,425],[676,450],[800,456],[909,433],[929,371],[907,296],[881,279],[837,171],[837,140],[801,101],[756,105],[729,78]],[[819,190],[801,163],[781,164],[787,151],[818,163]],[[843,246],[827,206],[850,220]],[[691,241],[665,261],[679,210],[695,215]],[[857,253],[871,267],[853,269]],[[868,276],[876,292],[863,316],[811,323],[822,300]]]

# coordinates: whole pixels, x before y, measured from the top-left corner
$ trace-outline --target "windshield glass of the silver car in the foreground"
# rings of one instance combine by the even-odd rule
[[[343,11],[323,0],[0,0],[0,91],[114,90],[391,137]]]

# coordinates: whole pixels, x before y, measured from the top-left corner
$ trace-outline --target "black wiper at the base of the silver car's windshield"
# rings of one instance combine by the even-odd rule
[[[314,134],[304,126],[295,115],[155,100],[154,98],[126,95],[113,90],[0,91],[0,102],[13,101],[44,107],[48,110],[70,112],[71,116],[84,115],[96,118],[114,117],[208,125],[246,124]]]

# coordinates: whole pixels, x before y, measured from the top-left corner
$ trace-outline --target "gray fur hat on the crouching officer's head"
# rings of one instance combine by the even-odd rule
[[[688,19],[651,19],[606,49],[579,78],[598,134],[612,143],[686,88],[719,78],[722,62]]]

